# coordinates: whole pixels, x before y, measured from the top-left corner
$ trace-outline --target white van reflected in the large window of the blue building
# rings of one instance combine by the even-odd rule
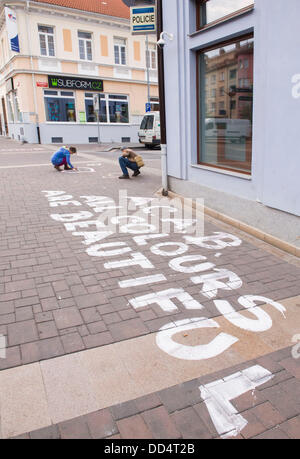
[[[216,139],[218,136],[224,137],[232,142],[246,141],[251,137],[251,121],[232,118],[206,118],[205,138]]]

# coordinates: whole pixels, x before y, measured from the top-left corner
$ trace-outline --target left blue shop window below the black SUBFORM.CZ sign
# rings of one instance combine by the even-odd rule
[[[44,91],[47,121],[75,122],[75,98],[69,91]]]

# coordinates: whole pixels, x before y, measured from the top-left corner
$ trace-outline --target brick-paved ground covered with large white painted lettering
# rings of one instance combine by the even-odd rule
[[[153,239],[128,217],[104,228],[97,219],[121,204],[120,190],[123,216],[147,217],[150,202],[137,198],[154,198],[159,175],[146,164],[120,181],[117,153],[113,162],[92,152],[74,160],[81,172],[58,173],[50,156],[49,147],[0,143],[2,436],[299,438],[299,260],[211,218],[197,240],[174,220]],[[78,409],[56,416],[47,406],[28,420],[21,395],[12,402],[6,388],[31,370],[46,381],[47,403],[63,401],[65,386],[47,386],[50,363],[54,374],[62,359],[91,351],[118,355],[128,392],[101,398],[100,366],[98,395],[87,403],[84,390],[72,394]],[[143,372],[148,381],[130,392]]]

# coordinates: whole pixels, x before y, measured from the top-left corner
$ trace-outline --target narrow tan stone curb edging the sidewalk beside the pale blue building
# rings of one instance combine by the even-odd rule
[[[156,194],[162,194],[162,188],[160,188]],[[188,202],[190,202],[190,205],[193,208],[196,208],[196,203],[190,199],[190,198],[185,198],[184,196],[181,196],[177,193],[174,193],[173,191],[168,191],[168,196],[170,198],[178,198],[181,201],[184,199]],[[264,231],[261,231],[254,226],[248,225],[247,223],[243,223],[239,220],[236,220],[232,217],[229,217],[228,215],[222,214],[214,209],[211,209],[209,207],[204,206],[204,213],[206,215],[209,215],[210,217],[213,217],[217,220],[220,220],[224,223],[227,223],[235,228],[238,228],[241,231],[244,231],[245,233],[250,234],[251,236],[256,237],[257,239],[260,239],[264,242],[267,242],[268,244],[273,245],[274,247],[283,250],[284,252],[289,253],[290,255],[294,255],[297,258],[300,258],[300,248],[296,247],[292,244],[289,244],[288,242],[282,241],[281,239],[272,236],[271,234],[265,233]]]

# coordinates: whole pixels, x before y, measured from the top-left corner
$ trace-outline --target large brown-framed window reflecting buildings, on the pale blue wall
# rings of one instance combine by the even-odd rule
[[[253,36],[249,35],[222,48],[198,53],[200,164],[251,173],[253,50]],[[241,59],[248,61],[247,69],[239,68]],[[211,84],[211,72],[216,66],[220,75],[235,75],[239,83],[227,79],[217,92],[211,89],[205,95],[207,81]]]

